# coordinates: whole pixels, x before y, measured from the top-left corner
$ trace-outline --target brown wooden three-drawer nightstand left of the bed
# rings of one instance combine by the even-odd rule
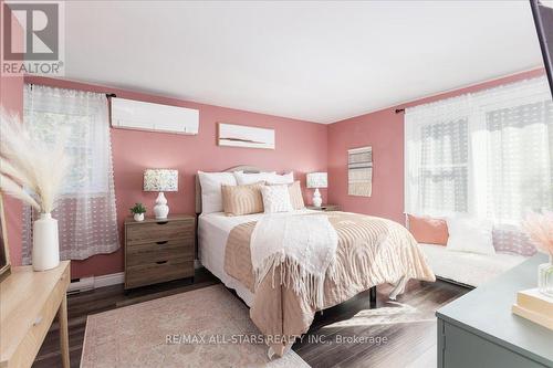
[[[125,220],[125,288],[194,277],[196,217]]]

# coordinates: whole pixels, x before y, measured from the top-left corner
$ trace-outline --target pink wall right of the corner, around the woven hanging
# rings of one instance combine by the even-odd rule
[[[523,72],[331,124],[327,146],[328,202],[340,203],[345,211],[374,214],[404,223],[404,115],[396,114],[395,109],[543,74],[543,69]],[[347,194],[347,149],[362,146],[373,146],[371,198]]]

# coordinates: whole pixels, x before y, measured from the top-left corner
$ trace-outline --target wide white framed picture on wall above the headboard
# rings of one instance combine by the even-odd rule
[[[227,147],[274,149],[274,129],[219,123],[217,144]]]

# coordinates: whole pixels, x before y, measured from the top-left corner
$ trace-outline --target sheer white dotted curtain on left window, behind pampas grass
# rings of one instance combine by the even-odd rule
[[[23,124],[36,138],[53,141],[67,134],[72,159],[61,200],[52,215],[59,221],[60,255],[84,260],[119,248],[113,183],[106,96],[74,90],[25,85]],[[32,244],[31,208],[23,211],[23,261]]]

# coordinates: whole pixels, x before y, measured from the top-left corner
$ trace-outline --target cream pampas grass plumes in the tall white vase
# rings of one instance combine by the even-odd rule
[[[70,164],[63,140],[49,145],[33,139],[17,115],[1,108],[0,190],[42,213],[52,212]]]

